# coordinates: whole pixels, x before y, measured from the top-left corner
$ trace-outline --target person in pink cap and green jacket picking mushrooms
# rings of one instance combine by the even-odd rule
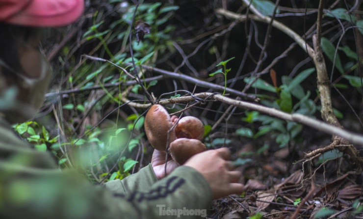
[[[39,50],[40,27],[71,24],[83,10],[83,0],[0,0],[0,218],[153,219],[168,208],[203,210],[212,199],[242,192],[226,148],[195,155],[182,166],[168,161],[167,177],[165,154],[155,151],[138,173],[94,186],[14,134],[11,124],[36,114],[51,79]]]

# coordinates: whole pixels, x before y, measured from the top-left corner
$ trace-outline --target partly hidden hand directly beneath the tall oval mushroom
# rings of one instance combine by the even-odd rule
[[[165,177],[165,151],[154,150],[153,157],[151,159],[151,165],[153,166],[154,173],[158,180]],[[166,165],[166,175],[169,175],[175,168],[178,167],[177,162],[175,162],[171,156],[168,154],[168,162]]]

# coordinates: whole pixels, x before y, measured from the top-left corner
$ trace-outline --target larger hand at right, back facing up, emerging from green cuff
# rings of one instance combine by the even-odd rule
[[[213,199],[230,194],[243,192],[243,185],[238,182],[241,172],[233,171],[232,162],[229,162],[228,148],[208,150],[191,157],[184,165],[190,166],[200,172],[209,183]]]

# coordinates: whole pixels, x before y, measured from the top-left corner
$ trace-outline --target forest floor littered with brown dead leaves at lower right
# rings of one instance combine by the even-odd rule
[[[315,139],[311,140],[314,142]],[[349,164],[346,157],[332,151],[304,160],[305,151],[323,146],[307,146],[304,152],[285,147],[250,157],[248,164],[236,168],[242,172],[241,183],[245,192],[240,196],[215,200],[208,211],[208,218],[363,218],[363,206],[360,204],[363,198],[362,173],[355,172],[354,165]],[[246,152],[255,152],[252,144],[243,145],[234,156],[240,157],[241,153],[248,154]],[[248,156],[244,158],[248,159]]]

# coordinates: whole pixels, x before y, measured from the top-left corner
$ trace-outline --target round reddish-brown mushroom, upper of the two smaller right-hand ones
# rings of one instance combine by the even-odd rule
[[[177,138],[193,138],[203,140],[204,126],[201,120],[194,116],[182,117],[175,127]]]

